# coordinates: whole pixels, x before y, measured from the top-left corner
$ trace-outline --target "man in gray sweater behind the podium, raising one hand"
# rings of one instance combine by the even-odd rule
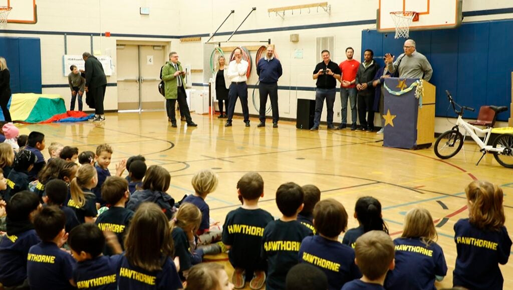
[[[413,39],[407,39],[404,42],[404,53],[399,55],[395,62],[393,56],[389,53],[385,54],[385,64],[392,74],[399,70],[400,78],[422,78],[429,81],[433,75],[433,68],[415,46]]]

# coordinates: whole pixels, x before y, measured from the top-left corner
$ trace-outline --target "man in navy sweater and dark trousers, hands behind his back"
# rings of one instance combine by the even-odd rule
[[[260,92],[260,123],[258,127],[265,127],[265,111],[267,110],[267,95],[271,99],[272,127],[278,128],[278,79],[282,76],[282,64],[274,57],[274,46],[267,47],[267,54],[257,64]]]

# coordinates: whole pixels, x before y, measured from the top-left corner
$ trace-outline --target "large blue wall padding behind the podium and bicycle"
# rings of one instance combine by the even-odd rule
[[[447,110],[449,102],[445,90],[451,92],[462,106],[476,112],[465,112],[467,118],[477,118],[483,105],[507,106],[511,102],[511,72],[513,71],[513,20],[464,23],[457,29],[412,31],[410,38],[417,50],[424,54],[433,67],[430,82],[437,86],[435,114],[440,117],[456,115]],[[399,56],[403,53],[404,38],[395,39],[394,33],[362,31],[363,50],[370,48],[380,64],[385,53]],[[508,113],[499,120],[506,121]]]

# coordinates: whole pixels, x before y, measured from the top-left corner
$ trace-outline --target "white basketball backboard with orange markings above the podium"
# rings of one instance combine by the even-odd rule
[[[390,12],[413,11],[419,20],[413,21],[410,31],[456,28],[461,25],[462,0],[379,0],[377,29],[395,31]]]

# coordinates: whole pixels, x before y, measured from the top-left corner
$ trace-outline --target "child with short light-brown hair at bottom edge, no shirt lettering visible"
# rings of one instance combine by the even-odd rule
[[[347,282],[342,290],[384,290],[388,270],[394,267],[394,245],[383,231],[370,231],[360,236],[354,247],[355,262],[363,277]]]

